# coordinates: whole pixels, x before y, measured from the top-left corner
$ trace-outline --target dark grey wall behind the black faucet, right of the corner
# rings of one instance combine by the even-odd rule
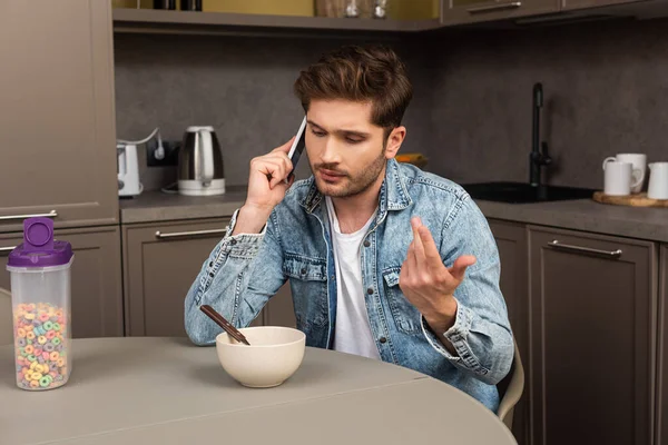
[[[617,152],[668,160],[668,20],[435,40],[430,170],[460,182],[528,180],[537,81],[550,184],[601,188],[602,159]]]

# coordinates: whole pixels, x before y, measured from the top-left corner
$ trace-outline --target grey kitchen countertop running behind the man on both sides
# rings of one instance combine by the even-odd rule
[[[222,196],[187,197],[146,191],[120,201],[122,224],[229,217],[246,199],[245,187]],[[475,201],[488,218],[668,243],[668,208],[599,204],[591,199],[538,204]]]

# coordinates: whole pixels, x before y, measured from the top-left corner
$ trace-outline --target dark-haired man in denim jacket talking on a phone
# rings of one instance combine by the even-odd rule
[[[495,411],[513,357],[497,245],[461,187],[393,159],[412,97],[401,60],[344,47],[295,92],[313,176],[292,184],[292,141],[250,161],[246,202],[186,297],[188,336],[220,332],[202,305],[244,327],[289,279],[308,346],[416,369]]]

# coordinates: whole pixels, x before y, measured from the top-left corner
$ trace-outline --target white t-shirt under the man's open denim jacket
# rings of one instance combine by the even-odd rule
[[[360,248],[375,214],[364,227],[354,234],[342,234],[332,199],[325,197],[330,227],[332,228],[332,250],[336,266],[336,329],[334,349],[343,353],[377,358],[379,349],[371,333],[369,315],[364,303]]]

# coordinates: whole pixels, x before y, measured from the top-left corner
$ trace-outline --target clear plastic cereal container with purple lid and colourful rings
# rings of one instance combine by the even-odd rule
[[[62,386],[72,369],[70,267],[72,248],[53,240],[53,221],[23,221],[23,243],[9,254],[17,385]]]

